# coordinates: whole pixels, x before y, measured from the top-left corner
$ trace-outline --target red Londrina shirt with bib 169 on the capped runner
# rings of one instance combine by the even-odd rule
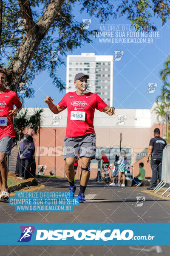
[[[58,103],[61,108],[68,109],[66,137],[79,137],[95,134],[94,111],[103,111],[107,104],[96,93],[77,95],[66,93]]]

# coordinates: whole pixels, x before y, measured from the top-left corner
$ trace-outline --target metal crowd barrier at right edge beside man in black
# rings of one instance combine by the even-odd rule
[[[166,185],[168,188],[164,189],[164,186]],[[166,192],[170,191],[170,144],[164,147],[162,155],[161,182],[159,182],[153,192],[157,193],[160,190],[164,190],[161,195],[164,195]],[[168,194],[167,197],[168,196],[170,196],[170,194]]]

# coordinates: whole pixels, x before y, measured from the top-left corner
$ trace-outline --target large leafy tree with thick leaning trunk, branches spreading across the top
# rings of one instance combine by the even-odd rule
[[[123,0],[120,4],[116,0],[0,0],[0,66],[6,67],[11,90],[17,92],[21,82],[29,84],[21,98],[34,95],[31,82],[45,69],[56,87],[65,87],[56,76],[62,55],[91,42],[92,31],[82,29],[82,23],[75,20],[75,5],[80,13],[86,12],[101,23],[111,15],[113,19],[125,16],[132,25],[153,29],[153,16],[164,25],[170,15],[166,0]],[[24,20],[23,27],[18,26],[19,19]],[[60,52],[57,61],[51,61],[52,50]]]

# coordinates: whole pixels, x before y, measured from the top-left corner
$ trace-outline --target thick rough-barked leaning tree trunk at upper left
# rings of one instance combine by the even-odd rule
[[[35,24],[34,28],[31,28],[26,32],[23,41],[17,49],[11,66],[6,70],[7,86],[11,90],[17,91],[17,87],[22,79],[22,76],[26,72],[35,50],[39,46],[41,40],[48,33],[49,28],[58,15],[62,3],[63,0],[51,0],[44,15],[40,18],[37,24]]]

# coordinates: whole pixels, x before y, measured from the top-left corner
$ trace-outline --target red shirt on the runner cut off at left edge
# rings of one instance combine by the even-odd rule
[[[16,107],[22,106],[17,93],[8,89],[0,93],[0,117],[8,117],[7,125],[0,126],[0,139],[6,136],[15,137],[13,117],[9,116],[9,111],[13,110],[13,104]]]

